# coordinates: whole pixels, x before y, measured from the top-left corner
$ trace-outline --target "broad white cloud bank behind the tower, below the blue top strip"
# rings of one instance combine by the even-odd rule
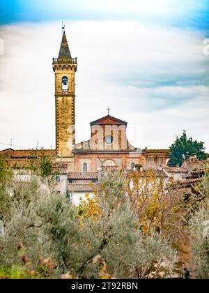
[[[66,22],[76,73],[76,140],[89,122],[111,114],[128,122],[136,147],[167,148],[187,130],[209,149],[208,58],[203,35],[135,22]],[[13,24],[1,29],[0,142],[54,147],[52,57],[60,24]]]

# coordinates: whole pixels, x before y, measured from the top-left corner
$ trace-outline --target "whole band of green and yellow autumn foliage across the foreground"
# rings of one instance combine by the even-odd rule
[[[50,162],[38,167],[49,193],[37,176],[14,183],[0,163],[0,278],[172,278],[180,239],[191,243],[191,278],[208,278],[207,176],[185,199],[153,174],[139,181],[137,172],[107,172],[76,207],[56,195]]]

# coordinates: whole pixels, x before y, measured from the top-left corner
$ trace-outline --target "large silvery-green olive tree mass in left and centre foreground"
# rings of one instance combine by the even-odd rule
[[[0,238],[0,264],[22,268],[17,247],[24,247],[33,264],[52,257],[49,278],[167,278],[177,262],[176,251],[155,231],[141,232],[137,214],[125,193],[123,178],[111,174],[101,191],[75,207],[63,195],[49,196],[36,179],[13,188],[4,214],[5,236]],[[2,271],[1,271],[2,273]],[[20,273],[20,278],[25,277]]]

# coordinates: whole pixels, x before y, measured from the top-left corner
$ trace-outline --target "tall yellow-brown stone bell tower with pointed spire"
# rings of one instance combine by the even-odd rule
[[[72,58],[63,31],[59,57],[53,58],[56,103],[56,155],[72,156],[75,144],[75,72],[77,58]]]

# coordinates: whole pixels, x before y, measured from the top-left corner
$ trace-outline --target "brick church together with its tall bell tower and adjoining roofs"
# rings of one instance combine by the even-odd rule
[[[55,77],[56,149],[37,152],[52,156],[57,162],[63,162],[65,167],[61,174],[62,182],[64,174],[66,177],[66,190],[71,193],[89,191],[89,181],[97,181],[98,172],[107,168],[133,170],[134,165],[139,165],[144,169],[160,170],[167,167],[167,149],[133,147],[126,136],[127,122],[112,117],[109,112],[107,116],[90,123],[89,140],[75,144],[77,58],[72,58],[70,54],[65,31],[59,56],[53,58],[52,68]],[[30,150],[7,149],[2,153],[10,158],[15,172],[19,170],[24,174],[28,167]]]

